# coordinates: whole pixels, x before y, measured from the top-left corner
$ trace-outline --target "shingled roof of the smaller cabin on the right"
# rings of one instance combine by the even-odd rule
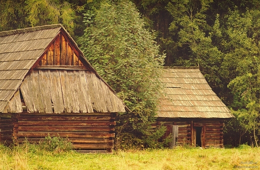
[[[231,118],[198,67],[165,67],[157,117]]]

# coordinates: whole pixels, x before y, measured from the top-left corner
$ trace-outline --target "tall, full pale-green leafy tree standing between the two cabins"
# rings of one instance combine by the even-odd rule
[[[158,54],[152,33],[131,2],[103,3],[94,17],[85,15],[80,47],[131,110],[119,114],[121,134],[145,137],[154,121],[164,55]]]

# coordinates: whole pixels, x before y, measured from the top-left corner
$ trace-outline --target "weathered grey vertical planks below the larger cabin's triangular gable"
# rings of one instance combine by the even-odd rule
[[[20,90],[29,112],[124,112],[122,101],[87,70],[33,69]]]

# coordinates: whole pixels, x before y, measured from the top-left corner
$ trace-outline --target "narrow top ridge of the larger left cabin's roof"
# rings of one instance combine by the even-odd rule
[[[2,32],[0,32],[0,36],[13,35],[13,34],[24,33],[24,32],[32,32],[32,31],[43,30],[43,29],[51,29],[51,28],[56,28],[56,27],[64,28],[60,23],[51,24],[51,25],[41,25],[41,26],[34,26],[34,27],[28,27],[28,28],[2,31]]]

